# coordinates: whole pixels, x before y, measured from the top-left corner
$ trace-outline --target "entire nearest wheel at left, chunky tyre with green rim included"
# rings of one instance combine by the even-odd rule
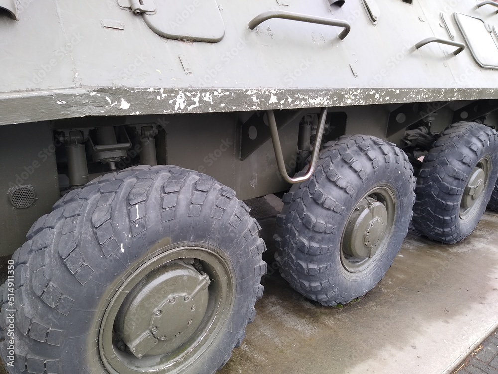
[[[135,167],[54,208],[13,257],[10,373],[214,373],[229,359],[266,270],[259,226],[233,190]]]

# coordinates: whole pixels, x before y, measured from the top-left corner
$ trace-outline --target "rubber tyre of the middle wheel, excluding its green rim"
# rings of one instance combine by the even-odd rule
[[[313,176],[283,197],[275,235],[282,276],[296,291],[322,305],[345,304],[372,290],[407,234],[414,185],[406,154],[391,143],[359,135],[326,143]],[[379,186],[392,191],[392,230],[378,256],[352,273],[342,259],[342,237],[359,201]]]

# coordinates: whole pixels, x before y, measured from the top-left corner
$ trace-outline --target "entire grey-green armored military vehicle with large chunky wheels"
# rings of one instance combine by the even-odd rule
[[[276,263],[323,305],[411,221],[451,244],[498,209],[497,2],[0,8],[10,373],[214,373],[263,295],[243,200],[283,196]]]

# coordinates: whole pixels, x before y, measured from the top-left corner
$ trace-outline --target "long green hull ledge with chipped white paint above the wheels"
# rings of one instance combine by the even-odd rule
[[[0,113],[3,113],[0,125],[91,115],[212,113],[496,98],[496,88],[199,90],[91,87],[0,94]]]

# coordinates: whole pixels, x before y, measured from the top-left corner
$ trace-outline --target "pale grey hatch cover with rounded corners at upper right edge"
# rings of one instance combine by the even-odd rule
[[[498,69],[498,47],[483,20],[455,13],[458,28],[476,62],[484,68]]]

